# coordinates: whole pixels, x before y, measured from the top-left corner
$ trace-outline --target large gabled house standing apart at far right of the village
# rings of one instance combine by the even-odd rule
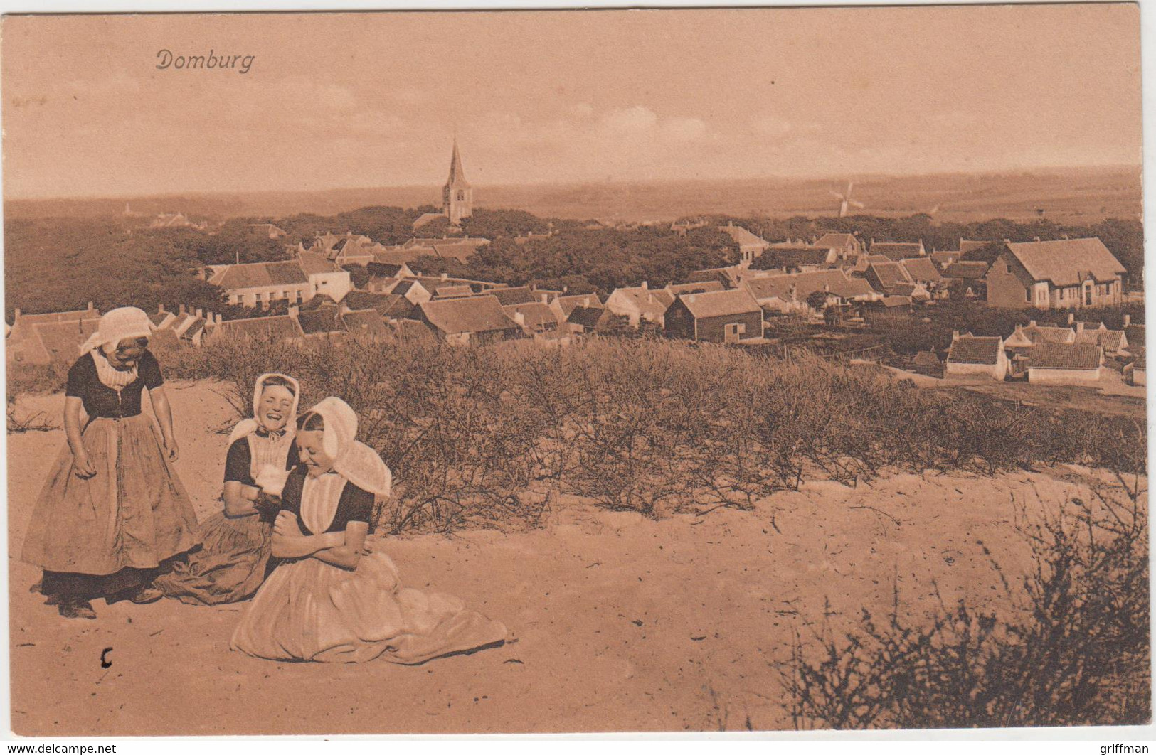
[[[1122,304],[1126,274],[1098,238],[1037,239],[1006,241],[984,281],[993,307],[1080,309]]]

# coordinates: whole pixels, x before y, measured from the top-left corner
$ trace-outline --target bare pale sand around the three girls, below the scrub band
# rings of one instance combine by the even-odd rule
[[[177,469],[203,518],[229,408],[209,383],[171,383],[170,395]],[[20,399],[53,417],[62,404]],[[1106,479],[1066,466],[892,474],[661,521],[563,498],[531,532],[395,538],[388,553],[406,584],[458,595],[510,627],[511,642],[416,667],[333,666],[230,651],[245,604],[98,601],[96,621],[43,605],[28,590],[37,569],[13,554],[64,442],[59,429],[8,439],[12,726],[22,735],[785,728],[778,664],[795,631],[850,627],[861,606],[887,611],[896,580],[913,615],[934,607],[933,581],[949,603],[1007,610],[978,541],[1017,573],[1027,548],[1014,502],[1039,510]]]

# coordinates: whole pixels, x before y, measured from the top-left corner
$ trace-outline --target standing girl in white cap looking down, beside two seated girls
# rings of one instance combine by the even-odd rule
[[[151,586],[158,567],[197,544],[197,515],[170,465],[177,441],[161,367],[147,349],[150,332],[142,311],[112,309],[68,371],[68,444],[40,492],[23,552],[44,569],[40,591],[62,616],[95,619],[94,598],[160,599]],[[146,389],[160,439],[141,413]]]

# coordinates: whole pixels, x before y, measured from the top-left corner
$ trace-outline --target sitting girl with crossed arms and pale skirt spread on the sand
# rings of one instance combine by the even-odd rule
[[[357,417],[326,398],[297,421],[303,464],[286,481],[273,532],[281,563],[232,635],[234,650],[277,660],[420,664],[502,644],[505,627],[454,597],[401,588],[378,546],[365,552],[390,470],[355,440]]]

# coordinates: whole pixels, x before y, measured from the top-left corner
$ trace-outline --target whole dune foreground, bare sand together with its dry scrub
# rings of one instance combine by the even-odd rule
[[[1148,715],[1136,704],[1148,700],[1149,663],[1147,592],[1136,586],[1148,580],[1142,420],[1009,408],[873,368],[650,342],[561,353],[240,346],[163,354],[177,466],[198,515],[220,506],[221,429],[245,411],[252,379],[281,366],[301,379],[305,404],[323,387],[348,398],[362,436],[393,469],[398,489],[378,524],[392,533],[403,582],[459,595],[506,623],[510,641],[418,667],[333,673],[260,661],[228,649],[243,605],[98,603],[97,621],[67,622],[28,592],[36,569],[9,556],[17,733],[772,730]],[[61,405],[60,394],[22,394],[13,409],[51,420]],[[12,554],[62,435],[9,435]],[[1084,607],[1039,614],[1040,595]],[[954,607],[961,600],[970,613]],[[869,634],[865,611],[891,616],[876,628],[898,652],[862,665],[855,648],[872,645],[845,636]],[[1040,615],[1064,622],[1059,634],[1017,642],[1051,631]],[[909,646],[909,636],[928,641]],[[981,710],[865,708],[829,689],[846,670],[850,682],[875,679],[843,688],[855,694],[910,686],[903,661],[918,676],[961,646],[977,660],[954,668],[972,681],[911,679],[958,698],[975,692]],[[938,660],[927,648],[942,651]],[[1064,665],[1076,658],[1079,672]],[[1010,682],[983,702],[993,693],[972,672],[984,663],[1003,668],[1000,679],[1023,672],[1035,703]],[[157,680],[148,694],[133,683],[144,675]]]

